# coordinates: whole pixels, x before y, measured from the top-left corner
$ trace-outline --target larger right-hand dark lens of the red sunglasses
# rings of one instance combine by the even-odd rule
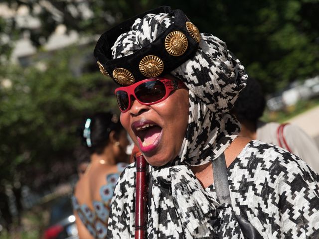
[[[165,96],[165,86],[160,81],[148,81],[135,88],[135,95],[143,103],[152,103]]]

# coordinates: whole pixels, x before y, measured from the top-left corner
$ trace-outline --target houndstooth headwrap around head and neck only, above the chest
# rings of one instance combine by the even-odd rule
[[[130,31],[118,37],[112,47],[113,58],[133,54],[150,44],[173,20],[167,13],[138,18]],[[188,128],[175,163],[205,164],[236,137],[238,123],[228,112],[245,86],[245,69],[223,41],[203,33],[193,58],[171,74],[189,89],[190,104]]]

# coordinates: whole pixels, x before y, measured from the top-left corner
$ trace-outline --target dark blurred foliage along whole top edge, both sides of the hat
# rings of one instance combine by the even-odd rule
[[[30,31],[35,45],[58,24],[81,34],[101,34],[112,25],[159,5],[186,12],[202,32],[227,42],[266,93],[319,73],[318,0],[6,0],[26,5],[41,24]],[[25,30],[25,29],[24,29]]]

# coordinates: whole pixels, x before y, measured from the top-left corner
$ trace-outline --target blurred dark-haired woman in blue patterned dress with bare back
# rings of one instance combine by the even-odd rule
[[[81,126],[90,164],[80,177],[72,197],[81,239],[105,238],[109,204],[117,179],[127,166],[127,133],[112,113],[96,113]]]

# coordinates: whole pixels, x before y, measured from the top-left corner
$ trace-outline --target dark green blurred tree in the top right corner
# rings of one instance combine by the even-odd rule
[[[171,5],[183,9],[201,32],[224,40],[265,93],[319,74],[318,0],[175,0]]]

